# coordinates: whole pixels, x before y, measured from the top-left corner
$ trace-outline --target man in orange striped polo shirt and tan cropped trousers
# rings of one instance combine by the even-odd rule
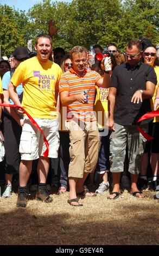
[[[71,141],[69,154],[69,200],[72,206],[82,206],[77,194],[95,196],[84,189],[89,173],[96,168],[99,153],[99,132],[94,115],[95,86],[109,88],[110,75],[104,72],[104,78],[92,70],[87,70],[87,50],[75,46],[70,52],[72,68],[60,79],[59,92],[62,106],[67,106],[66,129]],[[111,62],[111,60],[109,60]]]

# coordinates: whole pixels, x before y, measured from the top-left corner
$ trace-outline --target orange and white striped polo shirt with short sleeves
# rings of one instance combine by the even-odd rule
[[[88,92],[88,103],[80,103],[74,101],[67,106],[67,120],[77,118],[81,121],[94,121],[96,117],[94,111],[94,97],[95,86],[101,76],[93,70],[85,70],[81,76],[79,76],[73,69],[69,69],[67,72],[61,75],[59,82],[59,92],[67,90],[69,96]]]

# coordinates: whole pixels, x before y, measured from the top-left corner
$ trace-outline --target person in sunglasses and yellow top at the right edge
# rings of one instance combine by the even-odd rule
[[[157,84],[155,87],[154,96],[152,99],[150,99],[151,103],[151,110],[154,109],[154,101],[155,101],[155,95],[156,90],[159,85],[159,66],[156,66],[156,47],[155,45],[147,45],[145,46],[143,50],[143,59],[144,63],[152,66],[155,70],[156,76],[157,76]],[[158,172],[159,172],[159,117],[154,117],[154,120],[149,124],[149,135],[151,135],[154,139],[151,141],[147,141],[143,160],[142,160],[142,166],[141,166],[141,175],[138,180],[138,188],[139,190],[145,190],[148,186],[148,178],[147,178],[147,169],[148,169],[148,162],[150,157],[150,164],[152,169],[152,182],[150,184],[151,188],[155,191],[156,186],[158,184]]]

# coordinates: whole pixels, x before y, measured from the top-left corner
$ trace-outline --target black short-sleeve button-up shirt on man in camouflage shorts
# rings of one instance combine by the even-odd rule
[[[157,84],[154,68],[139,62],[133,69],[128,63],[120,64],[113,70],[111,87],[117,88],[114,110],[115,123],[120,125],[135,125],[143,114],[151,111],[150,100],[132,103],[133,94],[139,89],[146,89],[146,82]]]

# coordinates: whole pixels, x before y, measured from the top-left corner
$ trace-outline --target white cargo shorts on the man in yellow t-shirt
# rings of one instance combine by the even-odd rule
[[[49,143],[48,157],[57,158],[59,150],[58,119],[34,118],[40,126]],[[43,156],[46,144],[43,142],[42,133],[31,123],[28,117],[24,117],[22,129],[20,153],[21,160],[35,160]]]

